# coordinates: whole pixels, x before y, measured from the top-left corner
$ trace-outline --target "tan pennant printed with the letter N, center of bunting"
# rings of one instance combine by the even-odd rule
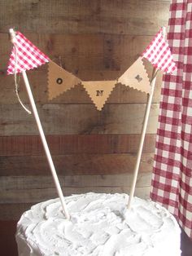
[[[82,85],[93,100],[96,108],[102,110],[107,98],[116,85],[116,81],[89,81],[82,82]]]

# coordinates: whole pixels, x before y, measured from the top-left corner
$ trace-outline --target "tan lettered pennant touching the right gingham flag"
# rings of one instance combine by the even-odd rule
[[[118,82],[125,86],[133,87],[133,89],[151,93],[150,80],[142,62],[142,57],[139,57],[133,65],[123,73],[118,79]]]

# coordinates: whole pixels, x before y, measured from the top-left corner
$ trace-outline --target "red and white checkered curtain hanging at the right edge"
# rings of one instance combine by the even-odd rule
[[[168,24],[177,71],[163,77],[151,199],[192,239],[192,0],[172,0]]]

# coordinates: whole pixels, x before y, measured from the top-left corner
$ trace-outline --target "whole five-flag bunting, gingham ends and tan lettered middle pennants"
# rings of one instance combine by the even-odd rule
[[[15,38],[16,40],[13,42],[14,47],[11,51],[7,68],[8,74],[21,73],[49,62],[47,77],[49,99],[54,99],[63,92],[81,83],[98,110],[103,108],[111,91],[118,82],[125,86],[132,87],[133,89],[151,94],[151,82],[142,62],[143,58],[146,58],[156,68],[166,73],[172,73],[176,69],[176,64],[172,59],[172,53],[168,43],[164,40],[163,29],[159,30],[159,33],[156,34],[150,45],[146,47],[142,56],[140,56],[116,81],[81,82],[80,78],[69,73],[64,68],[59,67],[59,65],[55,64],[53,61],[50,61],[49,57],[42,53],[37,46],[34,46],[22,33],[17,32]]]

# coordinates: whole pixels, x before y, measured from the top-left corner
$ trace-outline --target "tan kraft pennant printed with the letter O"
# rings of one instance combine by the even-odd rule
[[[48,69],[49,99],[59,96],[80,82],[81,80],[78,77],[59,67],[55,62],[50,61]]]

